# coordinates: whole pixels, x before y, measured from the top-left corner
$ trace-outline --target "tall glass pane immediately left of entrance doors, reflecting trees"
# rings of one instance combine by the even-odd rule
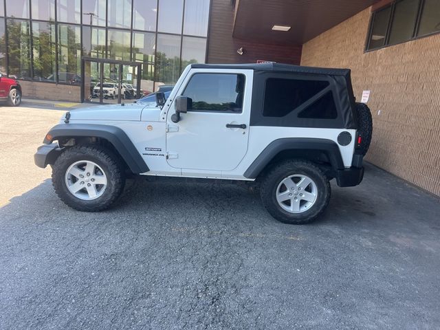
[[[58,25],[58,81],[81,83],[81,29],[76,25]]]

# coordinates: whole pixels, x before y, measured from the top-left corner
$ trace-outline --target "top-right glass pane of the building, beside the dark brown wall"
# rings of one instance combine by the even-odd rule
[[[209,0],[186,0],[184,34],[208,35]]]

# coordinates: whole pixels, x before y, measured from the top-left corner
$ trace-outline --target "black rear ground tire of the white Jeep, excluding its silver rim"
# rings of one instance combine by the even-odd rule
[[[316,184],[316,201],[309,210],[291,213],[278,204],[276,200],[278,185],[290,175],[306,175]],[[260,193],[261,201],[272,217],[283,223],[301,225],[314,221],[325,210],[329,204],[331,188],[325,173],[313,162],[292,159],[277,164],[265,175],[261,182]]]

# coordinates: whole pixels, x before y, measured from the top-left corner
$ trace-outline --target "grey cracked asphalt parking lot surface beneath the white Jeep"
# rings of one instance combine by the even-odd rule
[[[32,183],[1,189],[0,329],[439,329],[437,197],[367,166],[310,225],[239,186],[145,179],[77,212],[29,150],[60,115],[2,109],[28,139],[0,142],[1,186]]]

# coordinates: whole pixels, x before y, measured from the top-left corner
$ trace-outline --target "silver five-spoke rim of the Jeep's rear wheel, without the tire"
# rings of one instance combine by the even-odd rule
[[[278,205],[290,213],[302,213],[316,203],[318,188],[314,180],[303,174],[285,177],[276,188]]]

